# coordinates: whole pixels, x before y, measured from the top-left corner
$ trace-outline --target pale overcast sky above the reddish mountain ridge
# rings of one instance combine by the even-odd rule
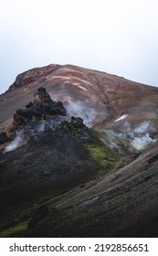
[[[48,64],[158,87],[157,0],[0,0],[0,93]]]

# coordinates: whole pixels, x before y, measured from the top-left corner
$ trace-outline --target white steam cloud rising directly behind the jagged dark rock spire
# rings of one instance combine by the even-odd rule
[[[84,88],[80,85],[78,85],[78,87],[80,87],[82,90]],[[66,89],[68,92],[67,94],[65,91]],[[61,101],[63,103],[67,110],[69,120],[71,116],[80,117],[83,119],[83,123],[85,125],[91,127],[96,123],[104,122],[107,120],[107,117],[110,116],[110,113],[105,110],[105,104],[95,95],[91,94],[89,98],[79,93],[76,95],[78,91],[74,92],[72,88],[64,87],[62,90],[63,91],[59,91],[58,93],[50,93],[50,96],[53,101]],[[84,89],[84,91],[86,90],[87,89]]]

